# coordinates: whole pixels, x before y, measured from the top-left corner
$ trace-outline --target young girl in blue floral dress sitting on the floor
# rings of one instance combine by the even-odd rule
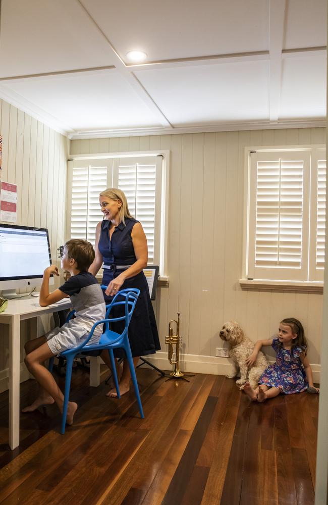
[[[279,325],[278,337],[258,340],[246,360],[248,367],[254,365],[262,345],[272,345],[277,352],[277,358],[274,365],[264,370],[256,389],[246,382],[244,391],[253,401],[262,402],[278,396],[279,393],[300,393],[306,389],[313,393],[319,392],[319,389],[313,386],[312,370],[306,357],[307,343],[300,321],[294,318],[283,319]]]

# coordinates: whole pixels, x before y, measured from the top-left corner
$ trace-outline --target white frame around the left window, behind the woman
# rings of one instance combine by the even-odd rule
[[[169,281],[168,277],[168,219],[169,219],[169,181],[170,181],[170,150],[123,151],[117,153],[89,153],[70,155],[67,171],[67,198],[66,198],[66,240],[70,238],[71,230],[71,205],[72,205],[72,174],[73,164],[78,160],[111,160],[115,158],[145,158],[162,157],[160,181],[160,213],[156,216],[156,225],[159,226],[159,280]],[[111,162],[113,164],[113,162]],[[112,167],[113,170],[113,167]],[[156,203],[156,207],[158,204]],[[99,221],[101,215],[99,212]],[[154,261],[156,261],[154,259]]]

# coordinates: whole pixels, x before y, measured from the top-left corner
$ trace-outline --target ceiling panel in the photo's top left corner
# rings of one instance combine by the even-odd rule
[[[0,77],[111,66],[108,43],[76,0],[2,0]]]

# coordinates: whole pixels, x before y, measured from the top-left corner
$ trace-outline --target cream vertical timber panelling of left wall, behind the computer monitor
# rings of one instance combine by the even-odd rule
[[[69,141],[28,114],[0,100],[3,135],[2,180],[17,184],[17,222],[47,228],[52,263],[65,238],[65,203]],[[63,278],[55,278],[58,287]],[[22,291],[24,293],[24,291]],[[49,318],[43,318],[47,325]],[[29,324],[22,323],[21,361]],[[7,387],[8,327],[0,325],[0,390]]]

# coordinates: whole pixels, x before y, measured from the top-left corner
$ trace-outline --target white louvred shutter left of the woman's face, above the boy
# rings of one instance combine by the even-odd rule
[[[93,245],[96,225],[102,219],[99,193],[107,187],[111,160],[76,160],[72,163],[70,238],[83,238]],[[110,174],[111,175],[111,174]]]

